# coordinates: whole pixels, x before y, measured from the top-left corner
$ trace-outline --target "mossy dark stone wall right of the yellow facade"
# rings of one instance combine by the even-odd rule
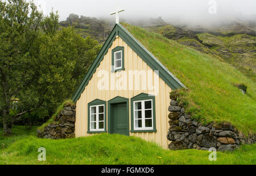
[[[179,106],[177,97],[171,97],[168,110],[170,114],[170,128],[167,139],[172,141],[169,149],[202,149],[211,147],[218,151],[234,151],[241,144],[253,144],[256,135],[245,136],[230,123],[203,126],[202,123],[193,121],[191,115],[185,113],[185,109]]]

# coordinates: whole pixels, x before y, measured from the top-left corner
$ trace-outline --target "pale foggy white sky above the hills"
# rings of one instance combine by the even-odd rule
[[[44,14],[58,11],[60,21],[69,14],[96,18],[110,16],[117,9],[125,10],[122,18],[143,19],[158,18],[169,22],[216,23],[218,20],[246,19],[256,21],[255,0],[34,0]]]

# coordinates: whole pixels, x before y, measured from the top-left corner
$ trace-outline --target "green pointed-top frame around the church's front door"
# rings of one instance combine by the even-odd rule
[[[117,96],[111,100],[108,101],[108,133],[111,134],[112,131],[112,105],[113,104],[118,104],[118,103],[122,103],[122,102],[126,102],[126,112],[123,112],[123,113],[126,113],[126,117],[129,118],[129,99],[128,98],[124,98],[124,97],[120,97],[120,96]],[[129,124],[128,124],[129,125]]]

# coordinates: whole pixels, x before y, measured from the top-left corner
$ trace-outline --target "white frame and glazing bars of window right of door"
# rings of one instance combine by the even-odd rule
[[[151,101],[151,109],[145,109],[145,101]],[[136,102],[141,102],[141,116],[142,116],[142,127],[136,127],[136,117],[135,117],[135,103]],[[151,110],[151,118],[145,118],[145,110]],[[145,127],[145,119],[152,119],[152,127]],[[154,130],[154,118],[153,118],[153,100],[138,100],[133,102],[133,127],[134,130]]]

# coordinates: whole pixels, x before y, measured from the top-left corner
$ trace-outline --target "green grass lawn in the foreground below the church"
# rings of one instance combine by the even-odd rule
[[[217,161],[209,161],[208,151],[170,151],[133,136],[101,134],[51,140],[36,138],[35,129],[15,126],[13,136],[0,137],[1,146],[5,144],[0,148],[0,164],[256,164],[255,144],[234,152],[217,152]],[[38,161],[40,147],[46,148],[46,161]]]

